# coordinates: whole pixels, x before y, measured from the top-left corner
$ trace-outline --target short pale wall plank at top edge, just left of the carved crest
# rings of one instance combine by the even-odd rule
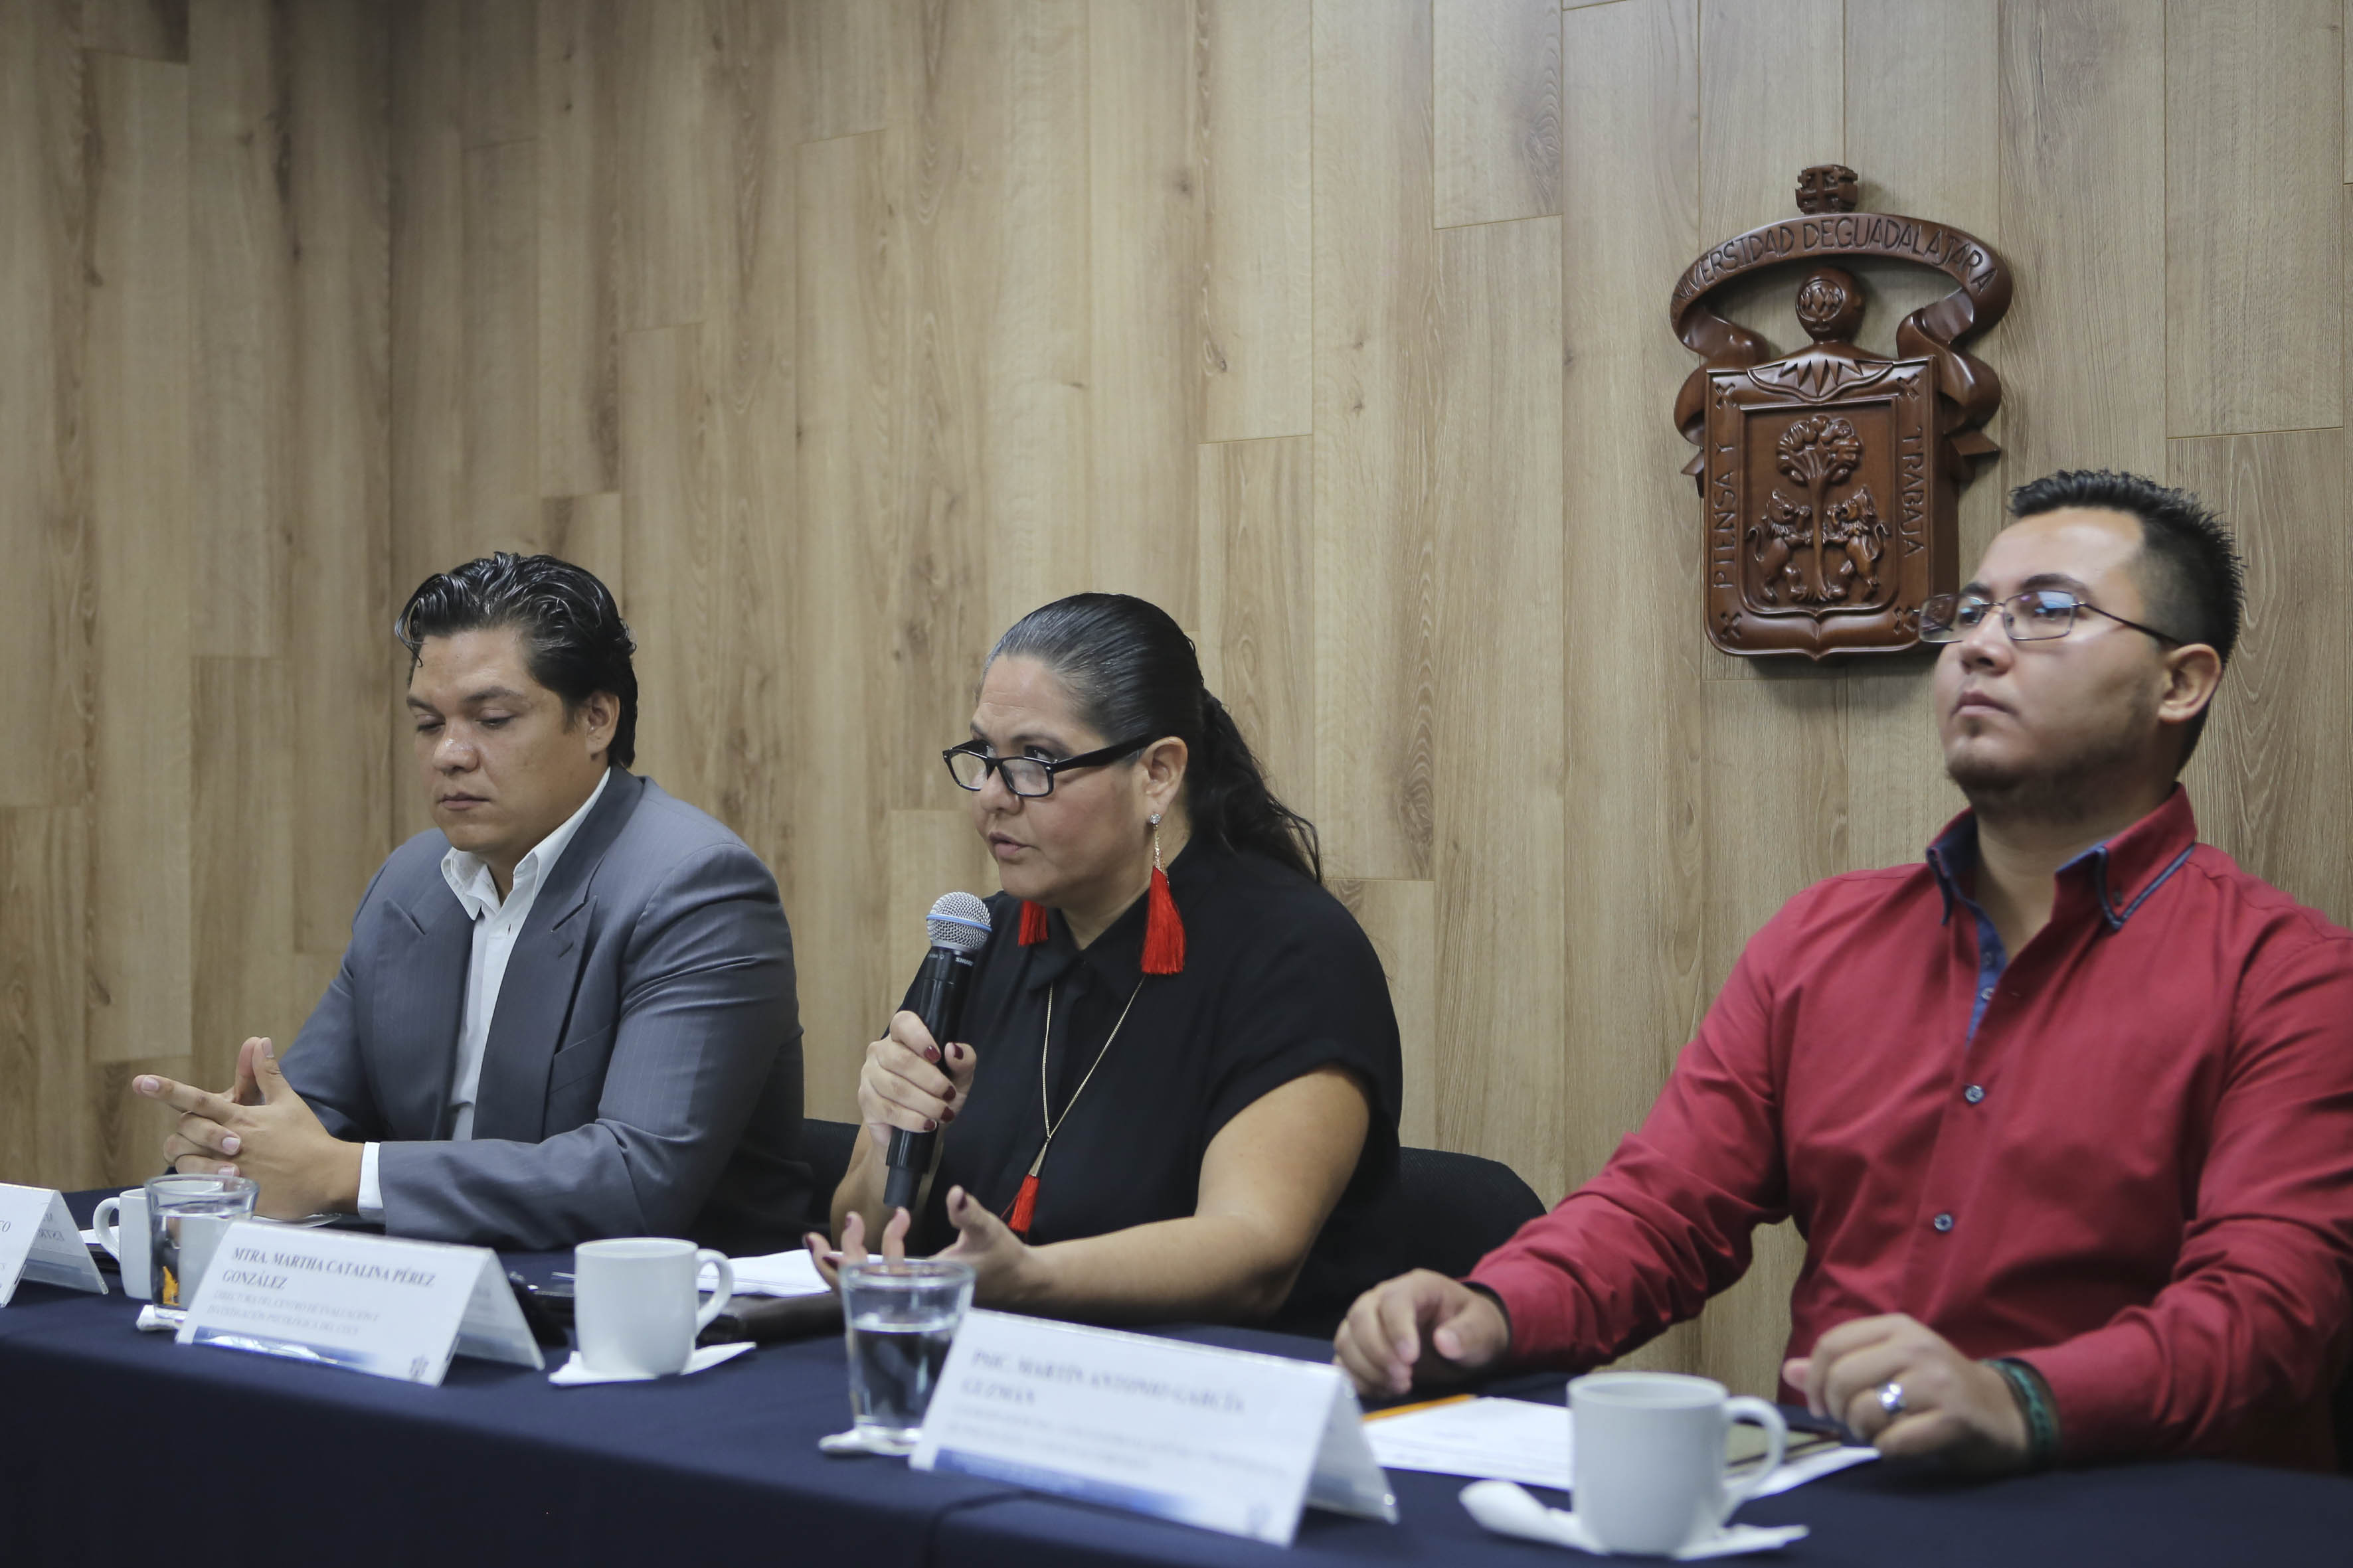
[[[1431,24],[1435,226],[1558,214],[1558,0],[1452,0]]]

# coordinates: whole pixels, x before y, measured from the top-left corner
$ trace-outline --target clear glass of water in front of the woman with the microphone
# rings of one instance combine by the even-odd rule
[[[842,1265],[849,1415],[871,1450],[915,1450],[932,1387],[969,1305],[969,1262],[871,1258]]]

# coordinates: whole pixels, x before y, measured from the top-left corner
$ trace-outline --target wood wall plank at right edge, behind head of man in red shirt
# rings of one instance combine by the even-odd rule
[[[2198,491],[2238,536],[2247,614],[2214,717],[2184,783],[2198,837],[2257,877],[2344,924],[2353,919],[2353,846],[2334,827],[2353,776],[2353,637],[2339,592],[2353,583],[2341,527],[2344,430],[2273,430],[2172,442],[2172,484]]]

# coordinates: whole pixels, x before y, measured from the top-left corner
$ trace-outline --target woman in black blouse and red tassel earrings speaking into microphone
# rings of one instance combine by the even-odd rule
[[[962,1037],[901,1011],[866,1046],[840,1251],[946,1251],[1016,1312],[1337,1319],[1395,1173],[1398,1020],[1193,642],[1127,595],[1031,611],[944,759],[1002,893]],[[939,1133],[915,1215],[882,1215],[892,1128]]]

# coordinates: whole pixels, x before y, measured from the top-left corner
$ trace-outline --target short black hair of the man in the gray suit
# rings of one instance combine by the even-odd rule
[[[409,670],[424,656],[426,637],[456,637],[511,625],[522,632],[522,656],[532,679],[565,698],[565,722],[581,703],[609,691],[621,703],[605,759],[628,766],[638,759],[638,642],[621,621],[612,590],[593,571],[553,555],[499,550],[435,571],[393,621],[393,637],[409,651]]]

